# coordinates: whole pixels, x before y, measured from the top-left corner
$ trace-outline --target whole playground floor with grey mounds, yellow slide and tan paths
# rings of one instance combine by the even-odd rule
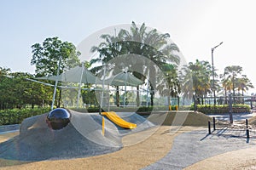
[[[255,164],[254,138],[248,142],[218,133],[230,128],[222,120],[208,134],[212,117],[199,112],[156,112],[147,118],[70,112],[70,123],[59,130],[49,127],[45,113],[26,119],[20,131],[9,127],[9,133],[1,133],[0,169],[241,169]],[[253,130],[254,114],[247,116]]]

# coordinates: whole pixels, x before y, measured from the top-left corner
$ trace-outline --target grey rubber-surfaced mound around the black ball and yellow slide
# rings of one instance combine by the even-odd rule
[[[137,124],[135,129],[117,127],[105,118],[102,135],[102,116],[71,111],[71,122],[60,130],[52,130],[45,113],[24,120],[20,135],[0,144],[0,158],[18,161],[70,159],[107,154],[123,147],[122,137],[137,133],[154,124],[136,113],[119,113],[127,122]]]

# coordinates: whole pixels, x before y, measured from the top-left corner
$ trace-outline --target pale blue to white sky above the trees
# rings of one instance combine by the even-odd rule
[[[223,42],[213,53],[218,73],[241,65],[256,87],[255,7],[254,0],[1,0],[0,67],[33,74],[34,43],[59,37],[78,46],[96,31],[135,21],[169,33],[187,62],[212,63],[211,49]]]

